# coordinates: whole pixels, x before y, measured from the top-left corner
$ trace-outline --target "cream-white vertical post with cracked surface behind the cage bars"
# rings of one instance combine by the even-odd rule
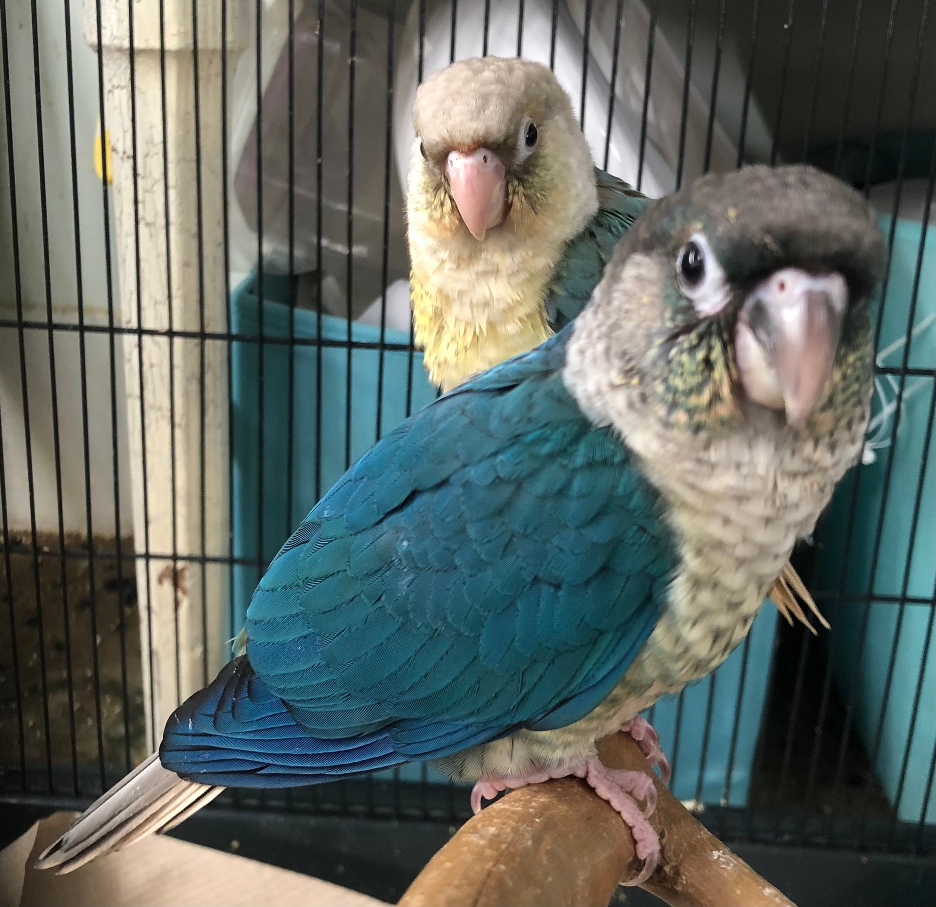
[[[121,320],[147,331],[124,336],[124,376],[135,549],[154,555],[137,562],[151,749],[206,668],[210,680],[223,663],[229,629],[227,566],[201,559],[229,546],[227,343],[195,334],[202,313],[206,331],[227,328],[221,66],[227,49],[233,74],[249,37],[247,0],[163,0],[162,23],[159,7],[85,0],[83,9],[85,38],[104,67]]]

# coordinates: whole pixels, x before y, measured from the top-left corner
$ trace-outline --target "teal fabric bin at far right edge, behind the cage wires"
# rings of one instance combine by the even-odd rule
[[[880,223],[887,236],[890,216],[881,215]],[[908,327],[936,313],[936,227],[924,232],[907,220],[893,227],[879,349],[893,349],[885,365],[899,366],[906,352],[908,366],[931,371],[933,326],[918,331],[909,350],[902,341]],[[878,382],[886,399],[895,400],[888,379],[879,375]],[[924,802],[936,745],[936,628],[929,605],[901,605],[900,599],[930,599],[936,583],[936,441],[928,428],[933,393],[932,377],[903,379],[898,431],[895,436],[892,419],[885,432],[891,446],[878,448],[874,462],[846,476],[816,534],[822,551],[818,585],[836,596],[842,592],[841,602],[826,608],[837,686],[852,705],[857,732],[899,818],[914,823],[921,816],[936,822],[933,797]],[[876,397],[872,415],[880,411]],[[914,522],[917,494],[921,504]]]

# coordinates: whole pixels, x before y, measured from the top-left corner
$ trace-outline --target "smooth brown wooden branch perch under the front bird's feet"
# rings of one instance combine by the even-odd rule
[[[618,734],[598,748],[610,768],[650,774],[636,743]],[[657,870],[643,885],[674,907],[793,907],[728,850],[651,775],[659,795]],[[469,820],[419,873],[405,907],[606,907],[640,870],[630,831],[588,785],[563,779],[508,794]]]

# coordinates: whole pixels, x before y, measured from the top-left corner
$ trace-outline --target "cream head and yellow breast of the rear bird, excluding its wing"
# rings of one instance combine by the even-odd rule
[[[485,57],[436,72],[413,124],[415,337],[448,390],[549,336],[549,281],[597,211],[597,188],[569,97],[538,63]]]

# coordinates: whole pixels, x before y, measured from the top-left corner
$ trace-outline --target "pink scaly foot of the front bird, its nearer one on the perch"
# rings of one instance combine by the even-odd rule
[[[656,869],[660,858],[660,838],[647,821],[647,816],[656,809],[656,788],[651,777],[643,771],[607,768],[596,755],[590,756],[572,768],[550,768],[531,772],[520,778],[491,778],[479,781],[471,792],[471,808],[477,813],[481,810],[482,799],[491,800],[501,791],[516,790],[528,784],[539,784],[552,778],[566,778],[570,775],[588,782],[592,790],[618,812],[624,820],[624,825],[631,829],[636,855],[643,860],[644,865],[639,875],[624,885],[640,885],[646,882]],[[636,802],[637,799],[644,801],[643,809]]]

